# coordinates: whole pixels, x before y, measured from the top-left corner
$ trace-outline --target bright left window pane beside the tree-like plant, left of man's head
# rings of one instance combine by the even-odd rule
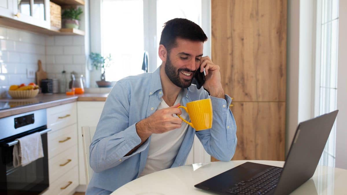
[[[104,0],[101,14],[102,54],[113,62],[106,80],[143,73],[143,0]]]

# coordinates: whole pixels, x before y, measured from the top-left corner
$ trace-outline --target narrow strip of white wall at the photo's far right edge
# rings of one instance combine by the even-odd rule
[[[339,49],[337,73],[336,161],[335,167],[347,169],[347,1],[339,2]]]

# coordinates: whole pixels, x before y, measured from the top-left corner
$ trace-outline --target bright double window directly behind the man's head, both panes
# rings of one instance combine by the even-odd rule
[[[102,0],[101,53],[110,53],[114,63],[105,71],[106,80],[117,81],[143,73],[144,51],[149,52],[151,59],[149,71],[159,67],[158,46],[163,24],[173,18],[187,18],[201,26],[202,2]]]

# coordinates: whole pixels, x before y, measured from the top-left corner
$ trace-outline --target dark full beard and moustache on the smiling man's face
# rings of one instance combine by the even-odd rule
[[[170,61],[170,57],[168,54],[168,57],[165,62],[165,73],[169,77],[172,83],[174,83],[176,86],[181,87],[181,88],[188,88],[189,86],[192,85],[192,79],[181,79],[179,77],[180,71],[186,71],[188,73],[192,73],[194,75],[195,71],[189,70],[188,68],[179,68],[176,70],[176,68],[172,65]]]

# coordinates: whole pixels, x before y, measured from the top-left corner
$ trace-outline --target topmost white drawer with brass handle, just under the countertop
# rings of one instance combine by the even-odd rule
[[[47,126],[53,133],[77,122],[76,102],[58,105],[47,109]]]

